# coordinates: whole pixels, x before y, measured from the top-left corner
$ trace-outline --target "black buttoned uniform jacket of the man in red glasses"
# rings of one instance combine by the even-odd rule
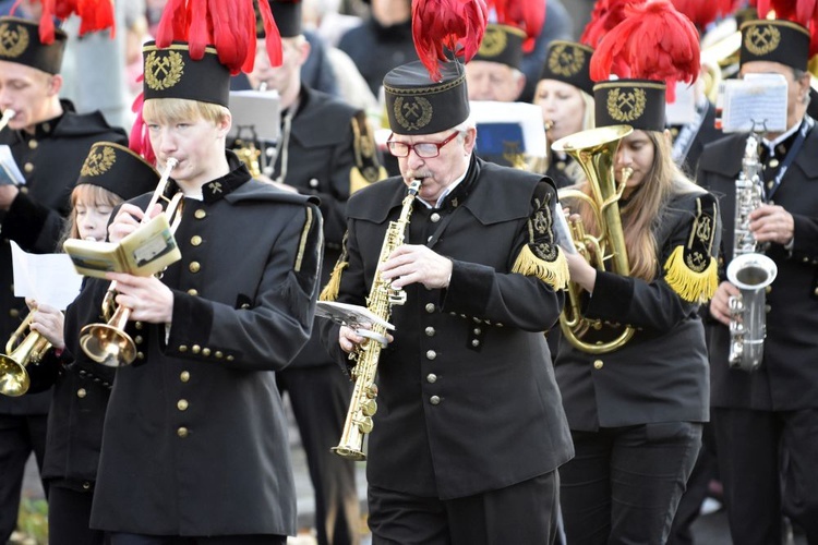
[[[551,472],[573,456],[542,334],[557,319],[563,293],[512,272],[536,192],[556,203],[546,180],[472,159],[440,209],[416,201],[408,242],[449,257],[454,269],[448,289],[412,284],[407,303],[393,307],[395,340],[381,354],[369,438],[370,484],[450,499]],[[338,301],[365,305],[405,195],[402,179],[389,178],[349,199],[349,267]],[[321,327],[327,350],[346,365],[337,326]]]

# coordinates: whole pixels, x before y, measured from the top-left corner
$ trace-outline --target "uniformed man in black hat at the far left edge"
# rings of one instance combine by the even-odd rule
[[[13,240],[27,252],[50,253],[70,211],[69,195],[76,173],[94,142],[127,142],[101,113],[77,114],[59,97],[60,68],[67,40],[56,29],[43,41],[36,22],[0,17],[0,110],[13,112],[0,132],[0,146],[25,180],[0,184],[0,339],[9,339],[26,316],[25,302],[14,298],[11,246]],[[5,167],[4,167],[5,168]],[[46,416],[51,395],[9,398],[0,396],[0,543],[14,530],[26,460],[34,451],[43,468]],[[47,489],[47,485],[45,486]]]

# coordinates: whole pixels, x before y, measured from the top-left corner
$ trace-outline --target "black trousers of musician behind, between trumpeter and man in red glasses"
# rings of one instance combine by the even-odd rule
[[[352,395],[352,383],[337,364],[289,367],[276,373],[287,392],[306,453],[315,491],[318,545],[353,545],[360,541],[360,504],[354,461],[329,449],[338,445]]]

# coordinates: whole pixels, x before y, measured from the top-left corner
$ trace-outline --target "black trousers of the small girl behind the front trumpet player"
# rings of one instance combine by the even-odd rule
[[[92,530],[93,491],[76,491],[51,483],[48,491],[49,545],[104,545],[105,532]]]

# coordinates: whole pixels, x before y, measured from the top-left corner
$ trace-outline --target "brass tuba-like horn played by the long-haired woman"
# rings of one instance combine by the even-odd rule
[[[594,237],[586,232],[581,219],[572,220],[569,229],[574,245],[598,270],[605,270],[605,263],[610,262],[610,270],[622,276],[628,276],[630,265],[618,202],[631,170],[623,169],[622,181],[617,184],[614,158],[622,138],[633,131],[630,125],[602,126],[572,134],[551,145],[552,149],[568,154],[582,167],[591,189],[590,196],[572,189],[558,191],[561,201],[576,198],[584,202],[593,214],[599,228],[600,235]],[[560,327],[568,342],[582,352],[604,354],[622,348],[630,340],[635,334],[630,326],[621,327],[622,331],[617,331],[616,337],[608,342],[585,340],[588,334],[601,330],[603,323],[581,315],[580,295],[581,287],[576,282],[568,282],[565,307],[560,315]]]

